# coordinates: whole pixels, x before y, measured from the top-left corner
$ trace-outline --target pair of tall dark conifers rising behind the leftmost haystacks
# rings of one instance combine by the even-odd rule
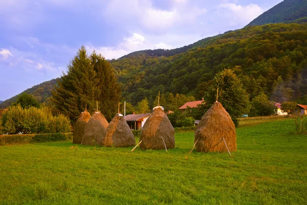
[[[98,101],[98,109],[111,120],[117,112],[120,87],[108,61],[95,51],[87,56],[82,46],[68,65],[67,73],[52,92],[57,111],[76,121],[85,105],[89,110],[96,110]]]

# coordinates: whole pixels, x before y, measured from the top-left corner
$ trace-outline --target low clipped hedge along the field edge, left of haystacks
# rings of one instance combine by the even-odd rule
[[[0,135],[0,145],[29,144],[33,142],[71,141],[73,133]]]

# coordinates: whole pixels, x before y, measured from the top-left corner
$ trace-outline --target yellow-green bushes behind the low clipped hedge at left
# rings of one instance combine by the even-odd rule
[[[59,133],[70,132],[70,120],[60,114],[54,116],[51,110],[42,107],[22,108],[19,104],[12,106],[2,116],[3,132],[9,134]]]

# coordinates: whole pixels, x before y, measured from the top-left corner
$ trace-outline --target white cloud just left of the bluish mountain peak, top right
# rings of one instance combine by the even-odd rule
[[[225,19],[228,19],[231,26],[245,26],[264,12],[264,10],[256,4],[241,6],[233,3],[226,3],[220,4],[218,7],[220,15],[224,16]]]

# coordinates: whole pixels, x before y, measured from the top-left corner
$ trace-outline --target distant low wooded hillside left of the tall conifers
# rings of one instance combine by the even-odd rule
[[[52,79],[46,82],[43,82],[39,85],[33,86],[32,88],[29,88],[25,90],[25,93],[32,94],[38,101],[39,103],[50,103],[50,97],[51,97],[51,92],[54,89],[54,85],[57,85],[57,80],[60,78]],[[7,99],[3,101],[0,104],[0,108],[6,108],[11,105],[13,101],[17,100],[18,95],[15,95],[14,97]]]

